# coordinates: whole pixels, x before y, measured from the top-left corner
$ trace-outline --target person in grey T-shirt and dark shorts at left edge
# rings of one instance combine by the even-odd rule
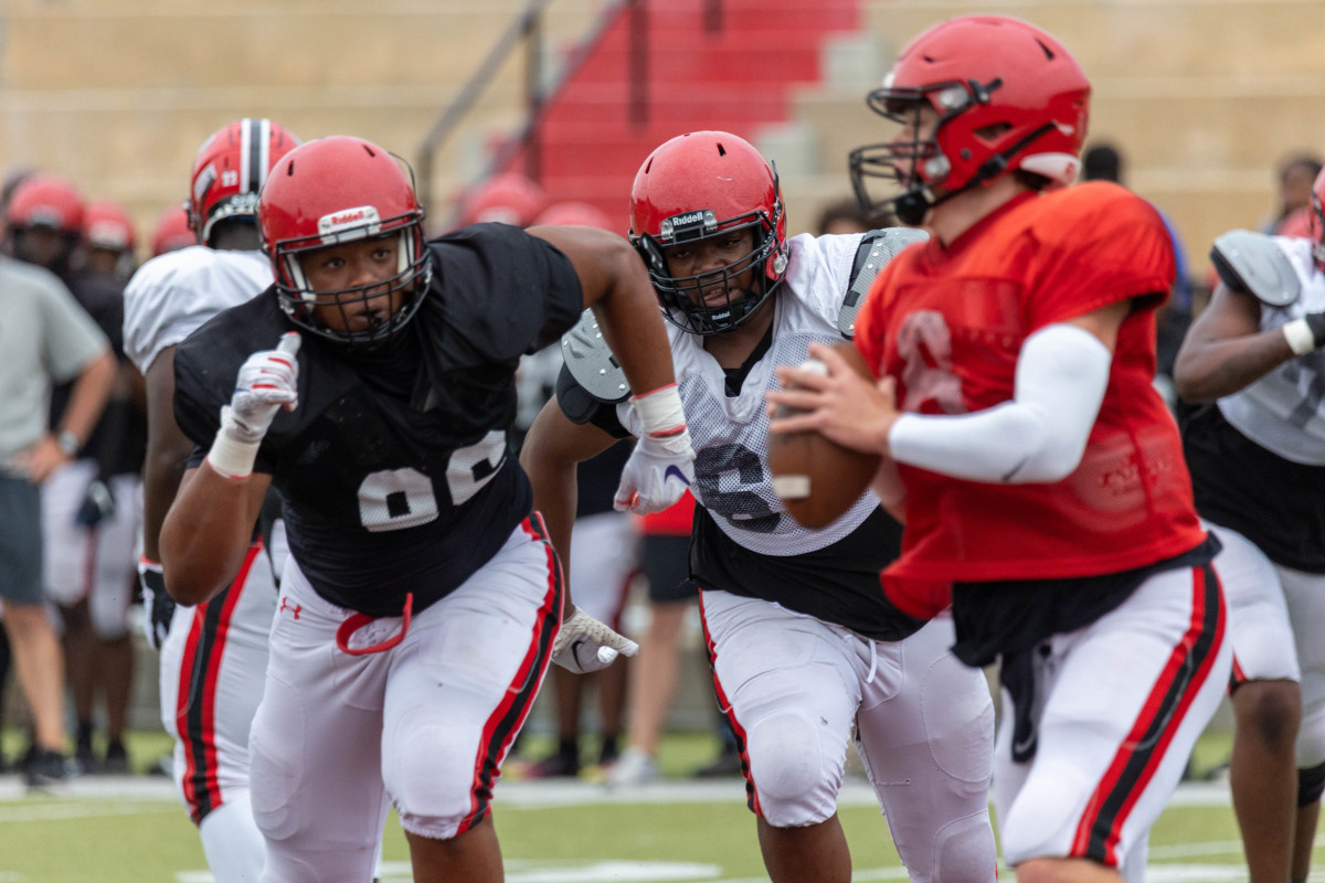
[[[60,230],[77,229],[77,207],[61,201],[57,210],[41,212],[53,225],[49,230],[29,230],[28,224],[8,228],[9,248],[49,237],[56,248],[44,253],[60,252],[66,240]],[[73,767],[65,744],[64,653],[46,616],[42,571],[49,552],[44,553],[41,488],[53,473],[74,462],[91,437],[117,368],[106,335],[57,275],[5,257],[0,258],[0,286],[9,298],[0,323],[0,351],[5,353],[0,388],[7,391],[0,396],[0,601],[15,675],[32,721],[24,776],[28,786],[44,788],[58,785]],[[69,387],[60,421],[52,426],[54,384]]]

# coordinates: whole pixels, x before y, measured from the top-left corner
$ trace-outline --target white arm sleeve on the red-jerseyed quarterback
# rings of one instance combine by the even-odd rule
[[[892,455],[973,482],[1063,481],[1085,453],[1112,361],[1085,328],[1040,328],[1022,346],[1011,401],[974,414],[902,414],[888,437]]]

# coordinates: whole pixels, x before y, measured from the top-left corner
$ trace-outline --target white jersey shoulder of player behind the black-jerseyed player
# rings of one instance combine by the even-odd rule
[[[125,289],[125,353],[147,373],[162,349],[270,285],[272,263],[261,252],[195,245],[158,256]]]

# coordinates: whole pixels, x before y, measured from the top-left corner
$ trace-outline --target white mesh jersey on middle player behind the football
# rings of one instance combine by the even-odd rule
[[[841,518],[814,531],[787,514],[772,490],[768,471],[768,416],[763,396],[778,388],[774,368],[799,365],[814,342],[844,343],[837,315],[851,282],[861,234],[790,241],[787,277],[776,297],[772,348],[750,371],[741,395],[726,395],[726,375],[705,351],[704,338],[669,327],[672,361],[681,404],[694,445],[696,499],[739,545],[761,555],[803,555],[843,539],[878,507],[865,492]],[[617,405],[617,418],[632,434],[640,421],[631,404]]]

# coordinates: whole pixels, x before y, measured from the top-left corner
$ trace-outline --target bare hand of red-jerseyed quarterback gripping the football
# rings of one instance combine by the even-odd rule
[[[888,433],[901,413],[897,381],[885,376],[871,383],[832,347],[810,344],[810,356],[828,369],[776,369],[780,391],[768,392],[766,409],[771,433],[814,430],[843,447],[868,454],[888,454]],[[779,412],[780,408],[786,412]]]

